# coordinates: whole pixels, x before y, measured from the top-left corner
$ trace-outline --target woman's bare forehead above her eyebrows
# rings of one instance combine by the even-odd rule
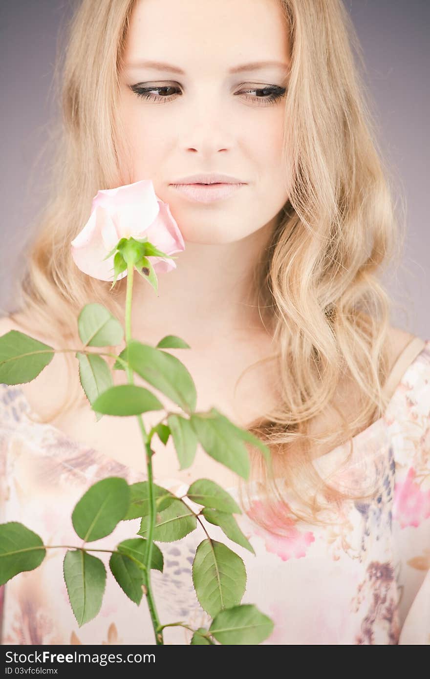
[[[281,3],[139,0],[130,16],[124,62],[141,68],[149,60],[171,64],[184,75],[196,66],[207,70],[216,65],[227,73],[247,62],[287,64],[289,41]]]

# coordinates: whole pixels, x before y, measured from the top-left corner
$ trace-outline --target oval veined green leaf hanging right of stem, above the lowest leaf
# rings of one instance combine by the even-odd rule
[[[213,618],[223,608],[240,604],[247,572],[243,560],[217,540],[202,540],[192,565],[194,589],[200,606]]]

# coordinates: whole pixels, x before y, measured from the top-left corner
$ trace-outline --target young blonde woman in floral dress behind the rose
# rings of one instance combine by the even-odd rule
[[[268,477],[250,448],[239,484],[199,448],[179,470],[171,439],[156,439],[154,479],[185,494],[204,477],[240,500],[255,555],[208,526],[244,559],[242,602],[274,621],[267,644],[429,642],[430,340],[390,325],[380,273],[403,233],[354,44],[340,0],[82,1],[61,71],[54,195],[20,304],[1,320],[1,334],[56,348],[79,348],[89,301],[124,320],[126,278],[110,291],[82,274],[70,243],[98,189],[153,181],[185,251],[158,296],[135,277],[132,335],[185,339],[191,349],[171,353],[194,378],[198,410],[215,405],[249,428],[274,468]],[[211,182],[236,187],[195,185]],[[70,515],[86,488],[145,479],[137,421],[96,422],[73,352],[1,388],[1,521],[74,544]],[[145,414],[145,427],[158,419]],[[133,531],[120,524],[107,548]],[[160,545],[163,621],[208,621],[190,568],[201,539]],[[3,644],[154,642],[146,607],[113,578],[98,617],[78,628],[63,556],[50,550],[1,588]],[[165,642],[191,635],[167,628]]]

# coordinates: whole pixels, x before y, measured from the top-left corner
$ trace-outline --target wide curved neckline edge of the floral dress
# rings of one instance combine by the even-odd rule
[[[395,365],[393,366],[393,369],[389,375],[389,378],[387,380],[386,384],[389,384],[391,382],[391,378],[397,377],[396,383],[395,383],[395,388],[391,394],[391,397],[389,399],[389,402],[387,403],[387,407],[385,408],[384,414],[378,418],[378,420],[375,420],[370,424],[368,427],[365,429],[361,430],[358,434],[352,437],[353,441],[353,446],[356,449],[357,448],[357,442],[361,441],[361,439],[368,439],[368,437],[373,437],[374,435],[379,434],[379,430],[381,429],[382,432],[385,430],[387,431],[387,416],[389,416],[389,411],[391,410],[391,407],[393,403],[395,402],[395,397],[397,396],[397,392],[399,390],[399,387],[401,383],[404,381],[404,379],[407,378],[408,372],[412,367],[414,366],[414,363],[416,363],[417,359],[419,358],[420,354],[422,354],[425,350],[430,349],[430,339],[421,339],[420,337],[413,337],[411,342],[408,343],[406,348],[401,352],[400,356],[397,358],[397,361],[395,361]],[[411,353],[412,350],[412,353]],[[402,359],[406,359],[408,361],[407,365],[404,365],[404,361]],[[24,391],[22,390],[22,386],[20,384],[16,385],[18,388],[18,394],[20,395],[20,399],[22,403],[24,403],[24,417],[26,418],[27,422],[31,422],[31,424],[35,424],[35,426],[41,427],[41,428],[48,428],[56,437],[59,439],[62,439],[65,443],[68,443],[71,445],[73,448],[76,450],[82,451],[82,450],[88,450],[92,451],[96,454],[98,458],[101,458],[102,460],[107,460],[110,462],[115,462],[115,464],[118,464],[118,466],[122,467],[122,469],[125,470],[132,470],[134,473],[137,474],[142,474],[142,471],[140,469],[137,469],[135,466],[123,464],[122,462],[119,462],[118,460],[115,460],[115,458],[111,458],[107,454],[105,454],[102,450],[90,447],[88,445],[85,445],[84,443],[81,443],[80,441],[77,441],[77,439],[74,439],[70,435],[66,434],[63,432],[60,428],[54,426],[54,424],[50,424],[49,422],[37,422],[37,420],[33,420],[31,418],[37,418],[37,413],[33,411],[31,408],[31,405],[29,401],[26,399],[26,396],[24,394]],[[351,439],[348,439],[348,441],[341,443],[340,445],[337,445],[334,447],[332,450],[329,452],[325,453],[323,456],[320,458],[315,458],[313,462],[319,466],[321,464],[321,461],[324,460],[323,464],[325,462],[332,460],[336,454],[338,454],[342,449],[344,449],[347,445],[350,444]],[[183,481],[183,479],[179,479],[176,477],[164,477],[164,479],[156,479],[154,477],[154,483],[156,485],[164,485],[166,484],[166,481],[168,482],[174,482],[178,483],[179,488],[182,486],[184,488],[188,488],[189,485],[193,481],[187,482]],[[281,479],[279,477],[276,477],[276,481],[280,481]],[[257,480],[255,481],[248,481],[248,485],[251,485],[252,487],[257,483]],[[220,484],[218,484],[220,485]],[[237,486],[232,486],[230,488],[224,488],[223,490],[226,490],[227,492],[237,494]]]

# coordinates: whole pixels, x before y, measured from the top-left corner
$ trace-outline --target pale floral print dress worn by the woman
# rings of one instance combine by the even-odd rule
[[[242,603],[274,621],[262,644],[430,644],[430,339],[412,339],[390,380],[384,416],[353,438],[353,456],[338,473],[348,488],[378,479],[372,501],[333,508],[325,528],[291,523],[280,538],[253,521],[262,509],[255,500],[234,515],[255,555],[205,524],[245,563]],[[78,545],[71,513],[90,485],[111,475],[128,483],[143,477],[29,414],[34,418],[20,385],[1,384],[0,523],[20,521],[46,545]],[[329,473],[346,454],[348,444],[314,464]],[[159,483],[178,496],[187,491],[176,479]],[[236,488],[226,490],[238,501]],[[92,547],[113,549],[139,526],[140,519],[122,521]],[[204,537],[200,527],[175,543],[157,543],[164,570],[151,571],[151,584],[162,624],[185,621],[196,629],[211,622],[192,585]],[[97,553],[107,570],[101,610],[79,628],[62,577],[64,554],[48,549],[39,568],[0,587],[1,644],[155,643],[145,597],[139,606],[126,597],[109,570],[109,553]],[[191,636],[184,627],[164,629],[165,644],[189,644]]]

